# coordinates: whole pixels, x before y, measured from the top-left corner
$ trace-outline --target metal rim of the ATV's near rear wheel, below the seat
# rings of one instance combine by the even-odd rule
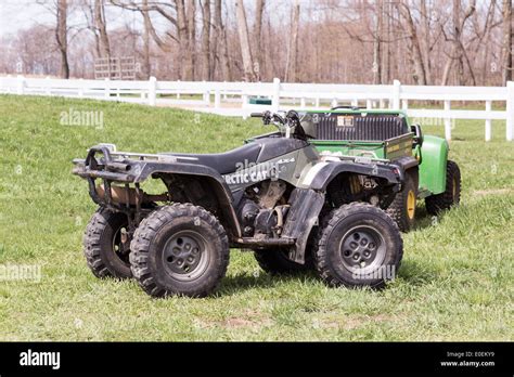
[[[165,271],[178,281],[198,277],[208,265],[207,248],[207,242],[197,232],[182,231],[174,234],[164,246]]]

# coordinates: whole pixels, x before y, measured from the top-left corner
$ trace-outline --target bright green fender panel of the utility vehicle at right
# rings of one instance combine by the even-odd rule
[[[448,142],[445,139],[425,135],[421,147],[420,192],[440,194],[446,188],[446,164]]]

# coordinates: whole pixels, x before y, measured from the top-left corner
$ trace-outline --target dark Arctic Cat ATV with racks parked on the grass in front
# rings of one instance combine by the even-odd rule
[[[100,144],[75,159],[99,206],[83,236],[92,273],[133,276],[153,297],[204,297],[226,274],[229,248],[239,248],[272,274],[313,265],[330,286],[378,288],[393,278],[402,239],[384,209],[417,160],[321,154],[308,114],[253,116],[279,130],[220,154]],[[145,188],[152,180],[164,192]]]

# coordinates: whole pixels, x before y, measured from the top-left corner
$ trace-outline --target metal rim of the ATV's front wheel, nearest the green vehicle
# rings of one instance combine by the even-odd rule
[[[359,225],[343,236],[339,245],[343,265],[360,274],[368,274],[382,265],[386,256],[386,244],[374,227]]]

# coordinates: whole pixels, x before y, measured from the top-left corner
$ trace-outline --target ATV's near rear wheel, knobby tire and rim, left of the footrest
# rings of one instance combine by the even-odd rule
[[[205,297],[227,272],[229,239],[220,222],[191,204],[164,206],[145,218],[131,243],[132,274],[153,297]]]

